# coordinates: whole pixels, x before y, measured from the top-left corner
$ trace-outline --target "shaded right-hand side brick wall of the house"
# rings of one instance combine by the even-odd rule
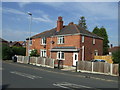
[[[80,42],[82,40],[82,36]],[[84,37],[84,43],[80,44],[80,47],[85,46],[85,59],[84,60],[92,60],[94,59],[94,51],[98,50],[98,55],[102,55],[103,52],[103,41],[101,39],[95,39],[95,44],[93,44],[92,37]],[[81,50],[82,51],[82,50]],[[81,54],[82,60],[82,54]]]

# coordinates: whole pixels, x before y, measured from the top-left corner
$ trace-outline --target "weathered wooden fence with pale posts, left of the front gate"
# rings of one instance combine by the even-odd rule
[[[54,68],[54,59],[50,58],[17,56],[17,62]]]

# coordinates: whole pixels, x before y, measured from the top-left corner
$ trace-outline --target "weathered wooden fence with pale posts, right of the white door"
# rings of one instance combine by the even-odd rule
[[[105,62],[89,62],[89,61],[78,61],[77,71],[89,71],[92,73],[98,72],[110,75],[119,75],[119,64],[111,64]]]

